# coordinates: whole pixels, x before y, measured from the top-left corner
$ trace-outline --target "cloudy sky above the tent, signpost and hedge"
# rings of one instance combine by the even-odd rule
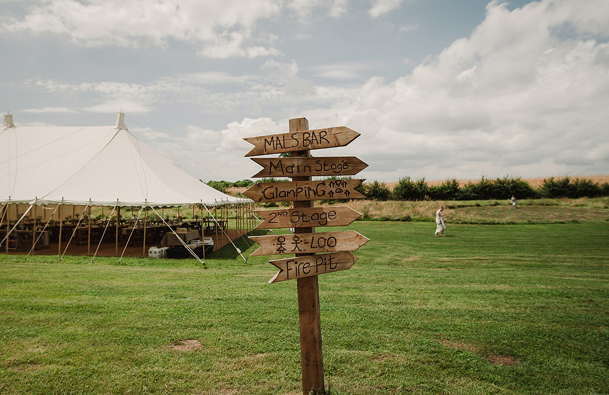
[[[204,181],[345,125],[368,180],[609,173],[607,0],[0,0],[18,125],[113,125]],[[167,144],[169,143],[169,144]]]

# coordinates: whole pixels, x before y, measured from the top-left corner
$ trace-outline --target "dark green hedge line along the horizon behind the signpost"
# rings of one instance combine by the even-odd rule
[[[336,179],[337,177],[333,177]],[[353,179],[353,177],[342,177]],[[278,178],[262,178],[259,182],[276,183],[287,181]],[[252,180],[241,180],[234,183],[228,181],[209,181],[209,186],[227,193],[233,187],[250,187]],[[439,185],[429,185],[424,178],[412,180],[410,177],[400,178],[400,181],[390,189],[387,184],[373,181],[360,184],[358,192],[373,200],[488,200],[507,199],[515,195],[518,199],[536,198],[581,198],[609,196],[609,183],[600,185],[585,178],[544,178],[537,188],[532,187],[521,178],[485,178],[473,183],[468,181],[463,186],[455,179],[446,180]]]

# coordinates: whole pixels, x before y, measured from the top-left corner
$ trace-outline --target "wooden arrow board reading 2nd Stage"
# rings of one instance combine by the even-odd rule
[[[264,218],[255,229],[347,226],[362,214],[349,206],[254,210]]]

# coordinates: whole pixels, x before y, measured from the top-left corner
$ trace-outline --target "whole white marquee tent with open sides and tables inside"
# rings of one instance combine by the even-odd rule
[[[256,225],[251,200],[153,152],[122,113],[90,127],[15,127],[5,115],[0,204],[0,253],[204,259]]]

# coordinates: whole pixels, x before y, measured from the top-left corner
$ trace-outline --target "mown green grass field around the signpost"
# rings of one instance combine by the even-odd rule
[[[371,241],[319,276],[329,393],[609,393],[609,222],[447,225],[348,227]],[[0,255],[0,394],[300,394],[296,283],[231,249]]]

